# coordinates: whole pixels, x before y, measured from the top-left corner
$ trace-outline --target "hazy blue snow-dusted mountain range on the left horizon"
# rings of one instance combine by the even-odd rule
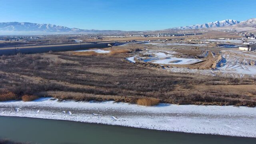
[[[30,22],[0,22],[0,33],[2,34],[50,34],[50,33],[108,33],[122,32],[120,30],[82,30],[79,28],[68,28],[56,26],[55,24],[36,24]]]

